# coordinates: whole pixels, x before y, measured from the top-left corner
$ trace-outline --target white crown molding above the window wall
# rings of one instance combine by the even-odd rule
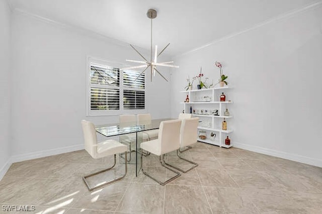
[[[57,26],[57,27],[60,27],[60,28],[64,28],[64,29],[70,30],[72,32],[82,34],[84,36],[93,37],[95,39],[100,39],[100,40],[103,40],[103,41],[106,41],[106,42],[109,42],[109,43],[112,43],[112,44],[116,44],[116,45],[119,45],[119,46],[123,46],[123,47],[130,47],[129,43],[123,42],[121,40],[113,39],[113,38],[107,37],[107,36],[105,36],[105,35],[103,35],[101,33],[97,33],[97,32],[94,32],[94,31],[91,31],[91,30],[88,30],[88,29],[85,29],[85,28],[81,28],[81,27],[78,27],[78,26],[70,25],[70,24],[64,24],[62,22],[58,22],[58,21],[55,21],[55,20],[52,20],[52,19],[48,19],[46,17],[42,17],[42,16],[39,16],[39,15],[36,15],[36,14],[33,14],[33,13],[29,13],[29,12],[27,12],[25,10],[22,10],[22,9],[15,8],[13,10],[13,13],[18,14],[18,15],[22,15],[22,16],[26,16],[26,17],[30,17],[30,18],[36,19],[38,21],[41,21],[43,23],[47,23],[47,24],[54,25],[54,26]],[[141,48],[141,47],[139,47],[139,48],[144,50],[144,48]]]

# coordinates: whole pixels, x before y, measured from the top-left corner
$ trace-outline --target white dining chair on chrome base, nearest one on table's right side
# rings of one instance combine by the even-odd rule
[[[165,154],[178,150],[180,147],[180,126],[181,126],[181,120],[163,121],[160,123],[160,126],[159,126],[158,138],[155,140],[143,142],[140,145],[142,150],[145,150],[147,152],[150,152],[154,155],[159,156],[159,162],[163,167],[176,173],[175,176],[169,178],[164,182],[160,181],[157,178],[152,177],[143,169],[143,165],[142,165],[143,155],[141,153],[141,170],[143,174],[153,179],[154,181],[158,182],[161,185],[165,185],[170,181],[181,176],[179,172],[166,166],[166,164],[164,163]]]

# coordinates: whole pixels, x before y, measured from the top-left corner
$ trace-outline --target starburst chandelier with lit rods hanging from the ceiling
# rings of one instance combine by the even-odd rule
[[[128,68],[122,68],[120,70],[128,70],[128,69],[136,69],[136,68],[144,68],[143,71],[135,78],[134,81],[137,80],[137,78],[144,73],[148,68],[150,68],[150,73],[151,73],[151,81],[152,81],[152,76],[155,76],[155,72],[157,72],[160,76],[162,76],[167,82],[168,80],[166,77],[164,77],[157,69],[156,66],[164,66],[164,67],[171,67],[171,68],[179,68],[179,66],[176,65],[171,65],[173,61],[171,62],[157,62],[157,57],[159,57],[165,50],[166,48],[170,45],[170,43],[160,52],[157,53],[157,46],[155,45],[154,48],[154,58],[152,58],[152,19],[156,17],[156,11],[153,9],[149,9],[146,13],[146,16],[151,19],[151,56],[150,60],[148,61],[138,50],[136,50],[133,45],[130,45],[143,59],[144,61],[137,61],[137,60],[129,60],[127,59],[126,61],[128,62],[134,62],[134,63],[139,63],[142,65],[138,66],[133,66],[133,67],[128,67]]]

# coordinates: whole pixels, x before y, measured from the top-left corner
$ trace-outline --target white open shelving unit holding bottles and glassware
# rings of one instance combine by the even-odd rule
[[[232,129],[229,129],[229,127],[231,127],[231,124],[229,123],[229,120],[227,120],[232,118],[233,116],[231,115],[231,112],[229,116],[224,116],[224,110],[228,109],[229,111],[229,105],[233,103],[233,101],[229,100],[229,90],[227,89],[230,88],[230,86],[224,86],[180,91],[181,93],[188,94],[190,99],[190,102],[181,102],[184,105],[185,113],[190,113],[190,106],[192,107],[192,110],[195,111],[200,109],[208,110],[207,114],[192,114],[193,117],[199,117],[199,121],[201,121],[201,125],[198,126],[198,133],[200,130],[204,130],[207,133],[207,138],[205,140],[202,140],[198,137],[198,141],[224,148],[232,147],[231,142],[230,145],[225,145],[225,138],[227,134],[233,132]],[[224,94],[226,95],[226,101],[219,101],[221,92],[224,92]],[[218,110],[219,116],[211,115],[210,110]],[[227,130],[221,129],[221,122],[224,118],[227,121]],[[206,120],[207,123],[202,123],[204,120]],[[210,140],[211,132],[216,134],[214,141]]]

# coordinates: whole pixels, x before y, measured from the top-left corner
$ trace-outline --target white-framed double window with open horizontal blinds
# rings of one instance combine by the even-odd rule
[[[88,116],[140,113],[138,110],[145,109],[145,75],[138,77],[138,71],[119,68],[120,64],[89,58]]]

